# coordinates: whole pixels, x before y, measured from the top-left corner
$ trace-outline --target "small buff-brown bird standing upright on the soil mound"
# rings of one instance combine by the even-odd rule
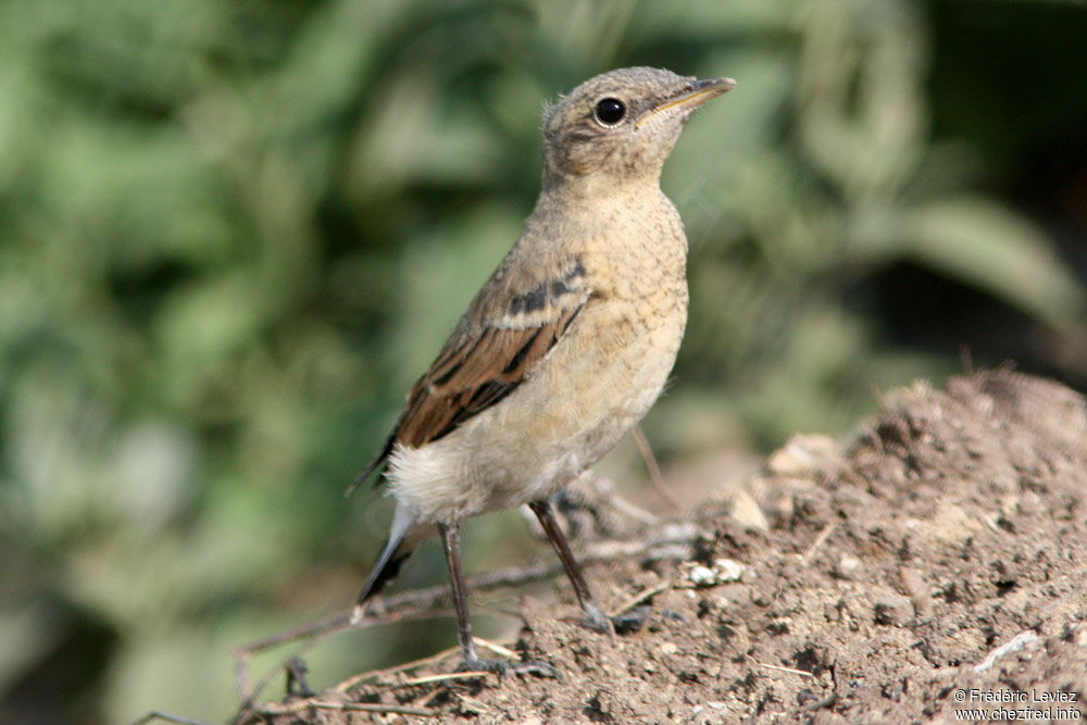
[[[546,112],[542,190],[524,233],[351,487],[384,467],[397,501],[355,621],[437,532],[462,667],[547,673],[479,658],[461,573],[460,522],[527,503],[570,575],[583,623],[611,630],[549,498],[615,446],[664,387],[687,322],[687,237],[661,191],[661,167],[695,109],[735,85],[622,68]]]

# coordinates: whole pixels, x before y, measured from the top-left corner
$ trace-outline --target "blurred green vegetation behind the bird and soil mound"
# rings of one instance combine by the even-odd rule
[[[663,179],[665,462],[970,364],[1083,388],[1084,38],[1028,0],[0,4],[0,721],[222,720],[233,647],[350,602],[389,509],[342,490],[530,210],[542,103],[613,67],[739,82]],[[534,550],[504,521],[470,568]]]

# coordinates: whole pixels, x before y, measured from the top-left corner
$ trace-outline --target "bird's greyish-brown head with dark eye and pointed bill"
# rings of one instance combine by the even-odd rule
[[[544,115],[544,184],[587,176],[657,179],[687,118],[736,86],[663,68],[620,68],[577,86]]]

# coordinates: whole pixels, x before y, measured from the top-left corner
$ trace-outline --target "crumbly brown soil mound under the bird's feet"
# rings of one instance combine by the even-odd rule
[[[526,601],[513,649],[561,682],[410,684],[452,672],[450,655],[251,722],[424,722],[351,703],[478,723],[953,722],[998,707],[1083,722],[1085,496],[1082,397],[1009,371],[919,383],[845,449],[798,437],[703,503],[688,561],[592,566],[605,609],[655,591],[639,632],[578,627],[564,579],[558,613]]]

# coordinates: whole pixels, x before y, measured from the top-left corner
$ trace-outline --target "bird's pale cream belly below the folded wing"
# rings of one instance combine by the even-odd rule
[[[393,452],[392,493],[416,521],[458,521],[547,498],[646,414],[667,380],[685,320],[651,328],[597,322],[599,335],[572,336],[584,340],[580,349],[557,346],[498,405],[440,440]]]

